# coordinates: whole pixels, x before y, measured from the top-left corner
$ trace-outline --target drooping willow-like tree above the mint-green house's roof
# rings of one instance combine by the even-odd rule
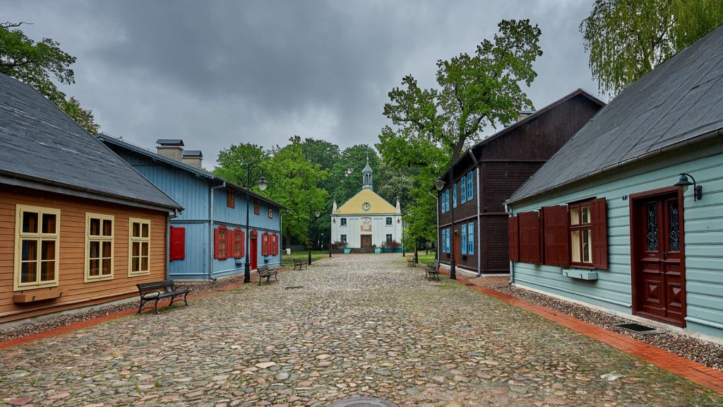
[[[580,24],[590,69],[610,96],[723,24],[723,0],[596,0]]]

